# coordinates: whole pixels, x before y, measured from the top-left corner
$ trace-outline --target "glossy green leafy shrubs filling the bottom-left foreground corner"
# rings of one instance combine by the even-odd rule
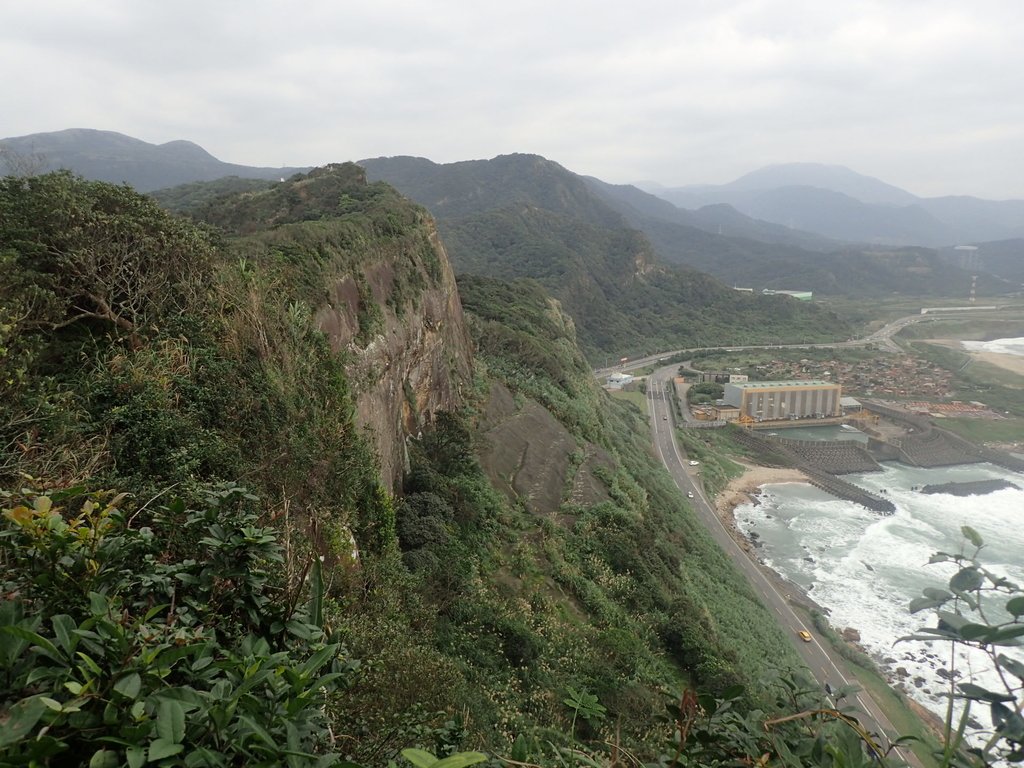
[[[123,495],[3,493],[0,764],[332,762],[325,693],[355,663],[275,599],[253,501],[219,486],[135,528]]]

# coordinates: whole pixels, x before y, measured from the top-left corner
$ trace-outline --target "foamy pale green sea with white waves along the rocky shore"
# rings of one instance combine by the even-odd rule
[[[908,605],[925,588],[945,588],[955,572],[950,564],[928,564],[934,553],[973,551],[964,525],[984,541],[979,559],[986,568],[1024,585],[1024,475],[991,464],[883,467],[844,478],[891,500],[896,506],[891,516],[812,485],[778,483],[763,486],[756,502],[736,507],[736,524],[755,541],[763,562],[802,587],[837,630],[860,634],[860,644],[893,684],[944,718],[950,674],[957,683],[1002,688],[980,652],[958,651],[951,658],[949,643],[901,640],[936,626],[933,611],[911,614]],[[1005,479],[1018,487],[970,497],[915,489],[984,479]],[[1010,652],[1024,662],[1019,651]],[[975,706],[971,715],[975,738],[981,738],[989,727],[987,709]]]

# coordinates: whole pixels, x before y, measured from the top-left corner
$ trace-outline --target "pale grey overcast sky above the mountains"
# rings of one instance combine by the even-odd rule
[[[666,185],[805,161],[1024,198],[1024,0],[0,0],[0,137]]]

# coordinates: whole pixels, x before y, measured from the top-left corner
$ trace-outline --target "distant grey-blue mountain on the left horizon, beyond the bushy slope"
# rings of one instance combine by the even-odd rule
[[[255,168],[224,163],[191,141],[151,144],[114,131],[72,128],[0,139],[0,174],[57,169],[128,183],[139,191],[224,176],[278,179],[303,168]]]

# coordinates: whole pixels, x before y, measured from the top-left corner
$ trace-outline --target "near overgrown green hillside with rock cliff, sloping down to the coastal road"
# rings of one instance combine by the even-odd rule
[[[390,187],[333,166],[196,226],[59,173],[0,213],[5,761],[867,759],[766,727],[831,703],[639,412],[537,281],[457,292]]]

